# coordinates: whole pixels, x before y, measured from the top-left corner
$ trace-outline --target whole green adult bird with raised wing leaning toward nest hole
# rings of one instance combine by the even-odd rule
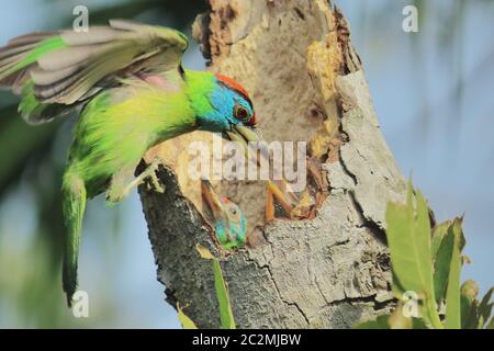
[[[79,107],[63,179],[67,229],[63,287],[70,305],[87,199],[121,201],[133,186],[156,179],[157,161],[133,180],[145,152],[192,131],[257,140],[256,113],[234,80],[182,68],[182,33],[124,20],[88,32],[31,33],[0,48],[0,86],[22,95],[29,124]],[[131,181],[132,180],[132,181]]]

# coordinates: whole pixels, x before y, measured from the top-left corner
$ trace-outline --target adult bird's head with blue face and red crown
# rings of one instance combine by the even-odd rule
[[[258,141],[256,112],[247,91],[235,80],[214,75],[211,111],[201,116],[201,129],[222,133],[234,141]]]

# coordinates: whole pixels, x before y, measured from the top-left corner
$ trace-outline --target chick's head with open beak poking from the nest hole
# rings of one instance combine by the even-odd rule
[[[227,250],[243,247],[247,231],[244,212],[227,197],[218,196],[207,180],[201,181],[201,192],[213,215],[221,245]]]

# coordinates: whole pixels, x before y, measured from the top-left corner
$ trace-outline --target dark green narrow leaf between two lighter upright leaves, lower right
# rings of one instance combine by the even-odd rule
[[[452,230],[448,230],[446,236],[442,238],[437,251],[436,262],[434,263],[434,287],[437,303],[439,303],[446,295],[453,249],[454,234]]]

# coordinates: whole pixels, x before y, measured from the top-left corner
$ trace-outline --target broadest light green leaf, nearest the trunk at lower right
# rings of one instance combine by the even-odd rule
[[[442,328],[434,290],[428,206],[420,192],[417,191],[417,195],[414,195],[412,182],[408,185],[406,205],[388,205],[386,223],[391,261],[400,290],[415,292],[423,302],[420,308],[426,322],[435,328]],[[397,284],[393,286],[396,287]],[[394,293],[397,297],[402,296],[396,288]]]

